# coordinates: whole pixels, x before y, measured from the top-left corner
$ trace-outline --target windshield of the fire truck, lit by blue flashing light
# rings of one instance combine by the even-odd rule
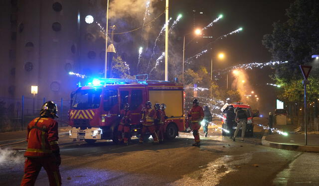
[[[100,107],[101,89],[79,90],[73,96],[73,109],[90,109]]]

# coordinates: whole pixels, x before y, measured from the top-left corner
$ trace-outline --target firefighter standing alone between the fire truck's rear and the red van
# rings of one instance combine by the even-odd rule
[[[198,99],[193,100],[193,107],[191,108],[190,112],[190,120],[191,120],[191,129],[193,130],[193,136],[195,143],[193,146],[199,147],[200,146],[200,139],[199,139],[199,133],[198,130],[200,129],[200,122],[204,118],[204,111],[201,106],[199,106]]]

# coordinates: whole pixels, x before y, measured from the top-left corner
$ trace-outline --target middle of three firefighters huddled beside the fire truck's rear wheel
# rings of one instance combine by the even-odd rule
[[[159,142],[163,143],[164,140],[164,117],[163,112],[161,110],[160,103],[156,103],[154,105],[154,109],[156,110],[155,116],[154,116],[154,124],[156,128],[156,134],[159,137]]]

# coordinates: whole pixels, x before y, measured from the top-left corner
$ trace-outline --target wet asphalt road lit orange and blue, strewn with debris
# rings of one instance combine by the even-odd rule
[[[257,118],[255,122],[266,122]],[[215,126],[216,127],[216,126]],[[72,142],[61,135],[62,184],[66,186],[317,186],[319,154],[273,149],[260,145],[263,130],[253,138],[233,142],[219,130],[201,134],[201,146],[192,147],[190,133],[180,133],[160,145],[129,146],[99,141]],[[152,139],[150,140],[152,142]],[[17,186],[23,176],[25,143],[1,147],[0,185]],[[9,150],[11,149],[11,150]],[[46,186],[41,171],[36,186]]]

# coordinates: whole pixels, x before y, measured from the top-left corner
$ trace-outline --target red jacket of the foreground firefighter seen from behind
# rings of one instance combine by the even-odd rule
[[[59,153],[58,123],[47,117],[37,117],[27,126],[26,141],[28,147],[25,157],[44,157]]]

